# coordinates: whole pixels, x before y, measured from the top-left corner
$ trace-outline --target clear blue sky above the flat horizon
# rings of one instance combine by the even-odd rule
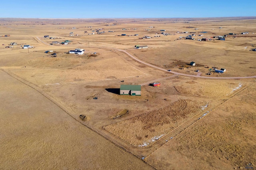
[[[2,0],[0,18],[256,16],[256,0]]]

